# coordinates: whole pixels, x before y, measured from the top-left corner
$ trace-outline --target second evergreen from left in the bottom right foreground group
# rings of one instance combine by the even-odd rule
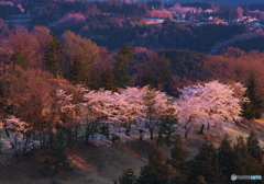
[[[141,169],[136,184],[166,183],[168,173],[168,166],[164,163],[161,150],[154,147],[148,156],[148,164]]]

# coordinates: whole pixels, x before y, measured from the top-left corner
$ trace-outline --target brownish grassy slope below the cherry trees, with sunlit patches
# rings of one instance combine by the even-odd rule
[[[262,135],[264,120],[254,122],[251,127],[256,130],[261,146],[264,147],[264,135]],[[188,138],[183,138],[191,157],[197,153],[197,149],[202,143],[205,136],[217,147],[221,141],[222,135],[219,133],[205,130],[205,135],[197,135],[198,130],[199,127],[195,127]],[[235,142],[238,136],[248,137],[251,128],[246,124],[240,124],[232,129],[227,129],[227,131]],[[112,184],[112,181],[117,180],[122,171],[129,166],[139,175],[140,168],[147,163],[147,153],[152,143],[148,139],[142,142],[132,139],[125,143],[116,142],[111,148],[79,145],[74,150],[70,150],[75,165],[74,172],[54,176],[51,176],[52,173],[37,162],[41,161],[40,156],[15,158],[12,156],[11,150],[4,150],[3,154],[0,154],[0,184],[1,182],[4,184]],[[163,148],[163,152],[165,158],[169,157],[169,149]]]

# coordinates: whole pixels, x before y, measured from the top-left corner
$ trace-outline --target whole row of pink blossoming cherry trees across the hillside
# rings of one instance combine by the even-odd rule
[[[229,85],[218,81],[180,89],[182,95],[177,101],[148,87],[129,87],[119,92],[103,89],[89,91],[80,87],[77,89],[82,93],[82,101],[78,103],[74,103],[73,94],[67,94],[62,89],[56,90],[54,103],[43,115],[43,129],[40,129],[38,139],[43,148],[48,145],[52,147],[50,138],[58,129],[67,137],[66,145],[85,139],[108,147],[112,143],[110,138],[125,140],[131,133],[139,134],[140,139],[144,138],[145,133],[150,133],[153,139],[155,129],[158,129],[160,135],[174,133],[175,129],[180,129],[178,118],[185,125],[186,137],[195,124],[201,126],[200,133],[205,126],[209,129],[216,126],[222,131],[223,126],[241,120],[241,103],[249,101],[243,97],[245,88],[240,83]],[[37,130],[29,125],[10,116],[0,126],[0,130],[13,133],[9,142],[15,150],[30,150],[35,142],[25,136]],[[166,126],[173,130],[162,131]]]

